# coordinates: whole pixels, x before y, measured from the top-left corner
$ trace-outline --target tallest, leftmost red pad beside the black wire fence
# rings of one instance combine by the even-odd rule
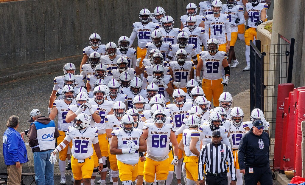
[[[293,83],[278,84],[278,102],[275,121],[275,143],[274,143],[274,169],[279,169],[282,161],[282,139],[283,139],[283,111],[285,98],[289,96],[289,92],[293,91]]]

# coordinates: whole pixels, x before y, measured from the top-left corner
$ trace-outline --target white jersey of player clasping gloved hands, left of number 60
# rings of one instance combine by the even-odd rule
[[[141,129],[134,128],[131,133],[127,134],[122,128],[113,130],[111,135],[117,136],[117,149],[127,149],[127,141],[133,141],[137,146],[140,144],[140,137],[143,134]],[[139,152],[135,151],[135,154],[117,154],[117,160],[127,165],[135,165],[139,162]]]

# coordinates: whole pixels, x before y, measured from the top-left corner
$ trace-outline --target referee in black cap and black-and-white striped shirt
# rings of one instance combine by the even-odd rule
[[[200,151],[198,166],[199,185],[204,185],[205,183],[203,178],[204,164],[206,165],[206,185],[228,185],[228,167],[232,178],[230,185],[236,185],[234,157],[230,147],[222,144],[221,139],[220,131],[213,131],[212,143],[204,145]]]

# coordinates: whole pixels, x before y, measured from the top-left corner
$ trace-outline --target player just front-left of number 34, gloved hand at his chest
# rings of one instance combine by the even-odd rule
[[[163,94],[166,104],[170,104],[169,94],[173,93],[173,77],[170,75],[164,75],[164,73],[165,69],[162,65],[155,65],[152,69],[152,76],[147,77],[147,84],[157,84],[157,87],[159,88],[158,93]]]

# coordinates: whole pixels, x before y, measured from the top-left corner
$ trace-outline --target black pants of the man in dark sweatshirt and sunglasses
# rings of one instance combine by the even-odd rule
[[[266,167],[254,167],[253,173],[249,173],[249,168],[245,168],[245,185],[257,185],[260,181],[260,185],[273,185],[272,173],[269,166]]]

